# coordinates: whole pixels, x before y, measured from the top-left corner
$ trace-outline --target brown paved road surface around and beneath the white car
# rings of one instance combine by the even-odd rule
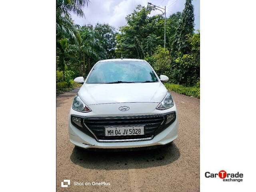
[[[185,192],[200,190],[200,100],[172,92],[180,117],[171,146],[140,152],[86,152],[68,140],[68,113],[78,90],[56,98],[57,192]],[[60,186],[70,179],[67,188]],[[75,186],[74,182],[84,182]],[[91,183],[91,186],[85,184]],[[106,182],[110,186],[93,186]]]

